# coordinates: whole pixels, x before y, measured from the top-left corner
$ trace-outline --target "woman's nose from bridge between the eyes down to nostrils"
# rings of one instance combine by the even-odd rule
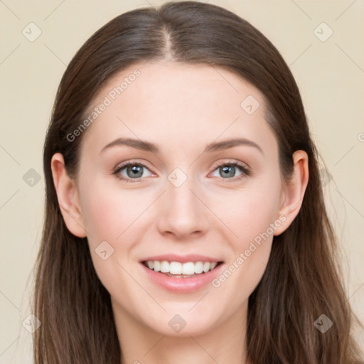
[[[207,209],[196,197],[198,191],[193,176],[188,176],[181,168],[175,168],[168,175],[159,215],[161,232],[173,232],[178,237],[187,237],[193,232],[201,233],[208,228]]]

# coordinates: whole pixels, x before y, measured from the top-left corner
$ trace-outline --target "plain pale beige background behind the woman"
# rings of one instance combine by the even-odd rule
[[[60,77],[97,28],[124,11],[162,2],[0,1],[1,364],[32,363],[31,334],[22,322],[31,314],[28,297],[43,222],[42,148]],[[364,321],[364,1],[210,3],[262,31],[299,83],[330,173],[325,194],[343,247],[347,296]],[[31,22],[36,26],[29,31]],[[22,31],[31,37],[36,27],[41,36],[31,42]],[[30,179],[36,176],[31,168],[40,181]]]

